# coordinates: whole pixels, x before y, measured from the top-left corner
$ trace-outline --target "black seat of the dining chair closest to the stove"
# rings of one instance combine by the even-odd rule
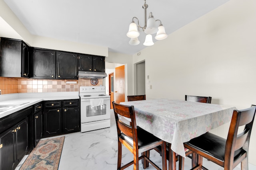
[[[144,129],[137,126],[137,135],[138,135],[138,149],[143,149],[154,143],[162,141],[161,139],[155,137],[151,133],[145,131]],[[121,133],[122,139],[126,140],[131,146],[133,146],[132,138],[126,136],[124,133]]]

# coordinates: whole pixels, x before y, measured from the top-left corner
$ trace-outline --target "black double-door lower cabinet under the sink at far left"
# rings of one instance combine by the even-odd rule
[[[28,152],[28,117],[0,136],[0,170],[14,170]]]

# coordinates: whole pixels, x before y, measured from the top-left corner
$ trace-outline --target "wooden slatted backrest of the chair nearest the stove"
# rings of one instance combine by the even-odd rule
[[[134,114],[134,106],[125,106],[122,104],[117,104],[112,102],[115,119],[116,119],[116,128],[118,138],[121,137],[121,133],[133,139],[133,143],[135,146],[134,149],[138,148],[138,139],[137,139],[137,125]],[[118,115],[123,117],[127,117],[131,120],[130,125],[119,120]],[[132,151],[131,151],[132,152]]]

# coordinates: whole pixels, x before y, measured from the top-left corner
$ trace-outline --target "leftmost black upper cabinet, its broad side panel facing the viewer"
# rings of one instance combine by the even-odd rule
[[[17,39],[0,38],[0,76],[31,76],[30,47],[26,43]]]

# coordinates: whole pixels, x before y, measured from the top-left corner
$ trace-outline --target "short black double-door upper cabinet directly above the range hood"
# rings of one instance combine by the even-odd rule
[[[79,71],[105,72],[105,57],[79,54]]]

